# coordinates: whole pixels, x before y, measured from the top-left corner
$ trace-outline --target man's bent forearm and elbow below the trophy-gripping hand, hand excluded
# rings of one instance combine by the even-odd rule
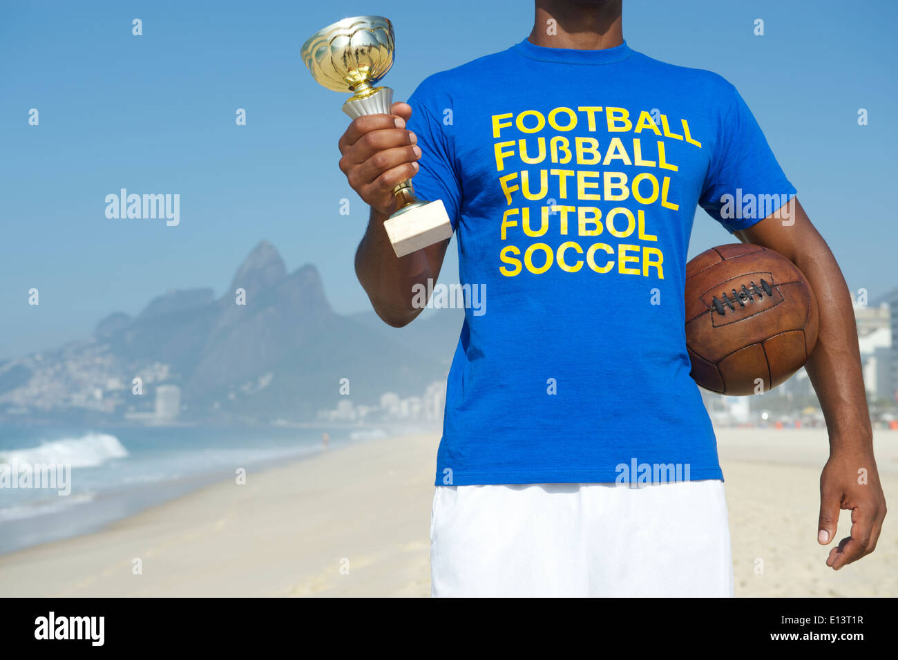
[[[365,289],[374,312],[384,322],[401,327],[413,321],[423,307],[413,305],[416,284],[436,281],[443,266],[448,241],[430,245],[405,257],[396,257],[383,222],[382,213],[371,210],[368,228],[356,251],[356,275]]]

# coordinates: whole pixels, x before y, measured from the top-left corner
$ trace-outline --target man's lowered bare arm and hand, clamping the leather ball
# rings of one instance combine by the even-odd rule
[[[885,518],[885,496],[873,456],[873,431],[848,286],[832,251],[797,198],[795,212],[787,222],[791,224],[770,216],[735,235],[792,261],[817,298],[820,330],[806,371],[830,436],[830,458],[820,477],[817,529],[818,541],[826,545],[835,538],[840,509],[851,510],[850,536],[842,539],[826,560],[827,566],[838,570],[876,549]]]

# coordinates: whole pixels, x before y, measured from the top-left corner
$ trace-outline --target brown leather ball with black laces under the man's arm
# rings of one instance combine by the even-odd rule
[[[767,392],[805,364],[816,341],[814,291],[779,252],[718,245],[686,264],[686,348],[705,389]]]

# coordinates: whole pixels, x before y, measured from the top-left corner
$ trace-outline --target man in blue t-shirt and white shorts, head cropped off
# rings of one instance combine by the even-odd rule
[[[841,270],[734,86],[641,54],[621,25],[621,0],[536,0],[527,39],[431,75],[339,140],[371,207],[356,271],[383,321],[418,316],[448,245],[396,258],[383,222],[410,177],[445,204],[462,285],[489,294],[487,313],[466,310],[448,377],[437,596],[733,594],[717,442],[684,337],[696,207],[810,281],[806,369],[830,458],[818,523],[797,533],[832,543],[850,509],[826,564],[876,548],[885,497]],[[734,214],[735,197],[753,210]]]

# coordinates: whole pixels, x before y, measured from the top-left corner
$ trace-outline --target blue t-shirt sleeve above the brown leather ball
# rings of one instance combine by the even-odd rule
[[[742,96],[727,84],[731,100],[699,198],[700,207],[729,232],[772,215],[796,193]]]

